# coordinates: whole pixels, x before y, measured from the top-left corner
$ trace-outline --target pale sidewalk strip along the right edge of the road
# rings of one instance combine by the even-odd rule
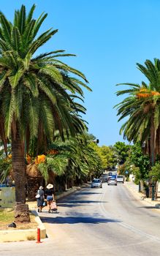
[[[126,181],[124,182],[124,186],[127,187],[138,200],[145,201],[155,208],[160,208],[160,198],[157,200],[151,200],[151,198],[145,197],[144,193],[138,192],[139,186],[134,184],[134,182]]]

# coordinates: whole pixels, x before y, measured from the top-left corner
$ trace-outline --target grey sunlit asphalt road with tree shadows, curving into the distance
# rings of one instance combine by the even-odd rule
[[[137,200],[123,184],[86,187],[43,212],[48,238],[0,244],[0,255],[160,255],[160,210]]]

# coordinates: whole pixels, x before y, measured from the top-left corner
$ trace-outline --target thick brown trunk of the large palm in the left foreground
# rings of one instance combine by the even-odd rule
[[[12,168],[15,180],[15,221],[30,222],[28,205],[26,205],[24,147],[18,128],[14,134],[12,132]]]

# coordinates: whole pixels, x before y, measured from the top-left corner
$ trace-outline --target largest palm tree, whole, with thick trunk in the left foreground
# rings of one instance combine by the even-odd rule
[[[29,220],[24,161],[29,142],[53,140],[56,130],[62,139],[64,133],[75,136],[83,132],[85,124],[69,94],[82,98],[81,86],[89,89],[82,72],[57,59],[72,54],[54,50],[35,56],[57,30],[37,35],[47,14],[35,20],[34,9],[35,5],[26,15],[22,5],[15,11],[13,23],[0,13],[0,136],[6,153],[7,140],[12,144],[15,217],[19,221]]]

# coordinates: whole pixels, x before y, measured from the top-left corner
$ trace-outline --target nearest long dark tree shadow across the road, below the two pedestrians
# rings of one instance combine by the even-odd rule
[[[41,217],[42,222],[52,224],[99,224],[99,223],[110,223],[110,222],[121,222],[118,219],[102,219],[94,217]]]

